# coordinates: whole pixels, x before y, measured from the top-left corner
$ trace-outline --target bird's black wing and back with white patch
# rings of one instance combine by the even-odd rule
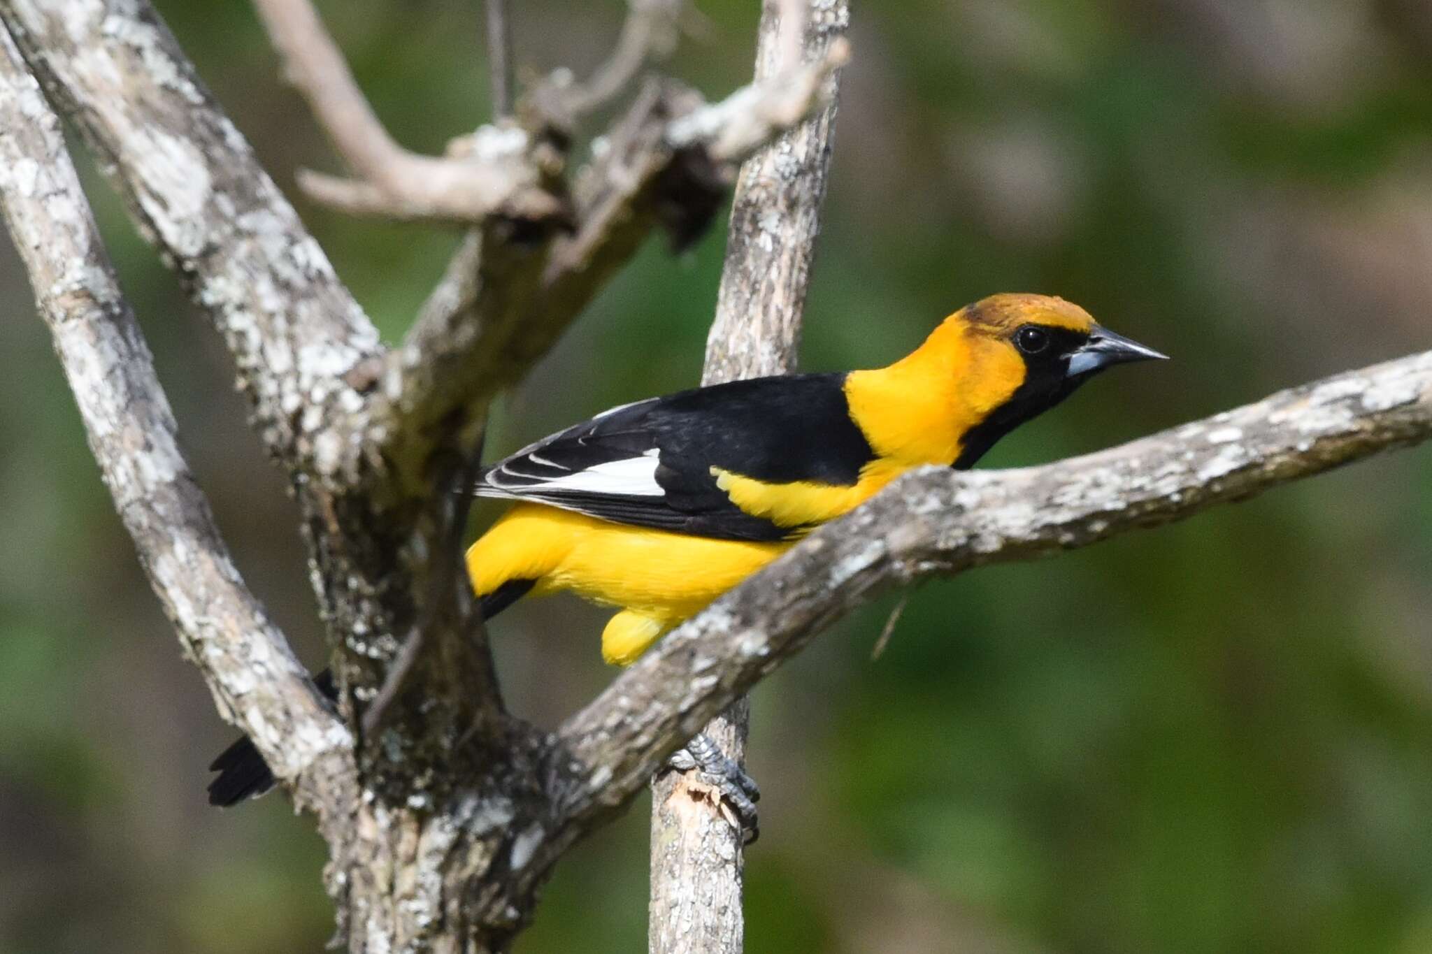
[[[875,455],[843,383],[756,378],[613,408],[493,465],[477,493],[697,536],[785,539],[803,528],[746,513],[712,468],[766,483],[853,485]]]

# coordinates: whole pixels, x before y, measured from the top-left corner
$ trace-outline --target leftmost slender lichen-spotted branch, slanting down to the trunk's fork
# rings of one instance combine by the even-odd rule
[[[178,425],[50,112],[0,29],[0,200],[90,449],[150,585],[203,672],[301,804],[351,774],[352,738],[245,588],[178,446]]]

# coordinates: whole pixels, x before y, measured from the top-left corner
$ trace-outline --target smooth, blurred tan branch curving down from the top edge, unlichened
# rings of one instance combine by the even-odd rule
[[[345,212],[438,222],[563,215],[561,200],[544,187],[527,133],[484,127],[455,140],[458,147],[450,147],[445,157],[411,153],[388,136],[309,0],[253,1],[284,59],[285,76],[358,173],[357,182],[301,177],[314,199]]]

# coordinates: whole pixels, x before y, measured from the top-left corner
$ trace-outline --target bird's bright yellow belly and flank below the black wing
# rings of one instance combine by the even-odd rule
[[[507,581],[534,579],[533,595],[570,589],[621,606],[626,612],[601,634],[601,654],[626,664],[788,546],[687,536],[517,503],[467,551],[467,568],[480,596]]]

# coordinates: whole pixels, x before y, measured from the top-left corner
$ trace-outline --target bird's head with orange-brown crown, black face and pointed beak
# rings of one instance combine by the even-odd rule
[[[1100,370],[1163,359],[1098,325],[1088,312],[1047,295],[991,295],[947,319],[967,355],[961,378],[982,418],[965,435],[955,466],[971,466],[1011,429],[1064,400]]]

